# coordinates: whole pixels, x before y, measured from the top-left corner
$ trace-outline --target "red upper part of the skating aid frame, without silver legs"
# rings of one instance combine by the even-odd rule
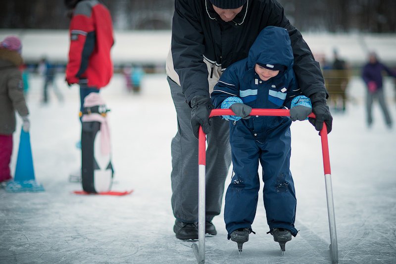
[[[212,109],[209,117],[218,115],[235,115],[231,109]],[[259,116],[290,116],[290,110],[288,109],[251,109],[250,115]],[[309,117],[315,118],[315,114],[311,113]],[[326,174],[331,174],[330,170],[330,157],[329,157],[329,144],[327,142],[327,127],[323,123],[323,128],[320,131],[320,137],[322,142],[322,155],[323,155],[323,167]],[[202,127],[199,127],[199,139],[198,139],[198,164],[206,164],[206,152],[205,152],[205,133],[203,133]]]

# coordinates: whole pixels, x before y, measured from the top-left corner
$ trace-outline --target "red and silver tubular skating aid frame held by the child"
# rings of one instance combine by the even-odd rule
[[[231,109],[213,109],[209,117],[219,115],[235,115]],[[250,115],[260,116],[290,116],[290,110],[287,109],[252,109]],[[311,113],[309,117],[315,118]],[[333,263],[338,263],[338,245],[336,232],[336,218],[334,214],[333,189],[331,184],[329,145],[327,142],[327,127],[323,123],[320,131],[322,142],[323,167],[326,183],[327,212],[329,216],[330,227],[330,255]],[[199,127],[198,139],[198,245],[192,245],[194,254],[198,263],[205,263],[205,177],[206,177],[206,143],[205,133],[202,127]]]

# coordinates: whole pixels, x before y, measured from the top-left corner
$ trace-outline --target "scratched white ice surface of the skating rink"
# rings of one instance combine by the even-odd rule
[[[111,109],[115,182],[112,190],[131,195],[80,196],[80,183],[68,181],[79,168],[78,87],[58,103],[52,91],[48,106],[40,104],[42,80],[31,76],[28,97],[31,145],[36,180],[42,193],[6,193],[0,189],[0,263],[131,263],[194,264],[191,245],[176,239],[171,210],[170,142],[176,133],[176,112],[165,75],[143,80],[142,94],[127,94],[116,75],[102,96]],[[394,96],[387,82],[386,94]],[[363,86],[350,83],[354,101],[345,115],[334,113],[329,134],[330,162],[340,263],[396,263],[396,127],[385,126],[374,106],[374,126],[367,129]],[[394,122],[395,102],[389,100]],[[11,162],[15,169],[20,118]],[[297,193],[296,238],[281,256],[268,226],[259,193],[249,241],[238,255],[227,240],[223,213],[213,222],[218,234],[206,238],[210,264],[331,263],[329,224],[320,137],[308,121],[292,125],[292,160]],[[230,179],[230,177],[228,178]],[[228,185],[229,180],[226,181]]]

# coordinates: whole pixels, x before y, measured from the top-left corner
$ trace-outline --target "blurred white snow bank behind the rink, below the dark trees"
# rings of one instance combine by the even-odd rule
[[[0,39],[7,35],[21,38],[22,55],[26,61],[38,62],[43,56],[51,61],[67,61],[69,33],[67,30],[0,29]],[[319,60],[333,60],[333,51],[348,63],[359,66],[366,62],[367,52],[375,51],[386,64],[396,64],[396,34],[302,32],[309,48]],[[144,63],[162,65],[171,42],[170,30],[115,31],[111,57],[115,64]],[[42,45],[45,43],[46,45]]]

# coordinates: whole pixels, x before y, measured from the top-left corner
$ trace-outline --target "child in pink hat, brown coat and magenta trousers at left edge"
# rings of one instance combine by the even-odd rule
[[[11,179],[9,162],[12,154],[12,134],[15,132],[15,111],[21,116],[25,132],[29,131],[29,110],[23,95],[23,80],[19,67],[23,64],[22,44],[9,36],[0,42],[0,182]]]

